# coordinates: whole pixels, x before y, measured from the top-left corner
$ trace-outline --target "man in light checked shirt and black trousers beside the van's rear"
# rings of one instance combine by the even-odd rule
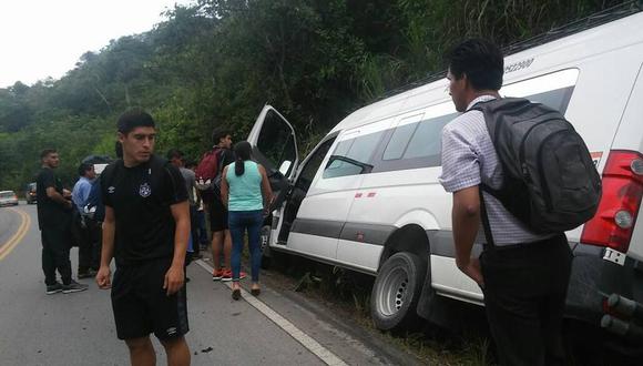
[[[470,109],[500,98],[502,53],[474,39],[456,47],[448,60],[449,94],[458,112],[465,112],[442,130],[440,183],[453,193],[456,263],[484,293],[502,365],[562,365],[561,326],[571,271],[567,237],[531,232],[500,201],[481,192],[482,186],[500,189],[502,165],[482,112]],[[481,224],[484,217],[490,233]],[[480,260],[471,257],[474,243],[484,244]]]

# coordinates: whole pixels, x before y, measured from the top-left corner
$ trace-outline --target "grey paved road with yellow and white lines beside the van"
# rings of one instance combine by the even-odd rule
[[[45,295],[40,245],[35,206],[0,209],[0,364],[129,364],[125,345],[115,337],[109,292],[83,279],[86,292]],[[75,274],[75,248],[71,257]],[[234,302],[208,271],[203,261],[188,267],[186,339],[193,365],[412,363],[296,296],[265,288],[258,299]],[[164,365],[162,347],[156,342],[155,347]]]

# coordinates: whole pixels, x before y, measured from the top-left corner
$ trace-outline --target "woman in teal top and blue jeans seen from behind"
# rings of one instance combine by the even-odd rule
[[[244,234],[248,233],[251,250],[252,286],[251,293],[257,296],[259,288],[259,267],[262,250],[259,235],[264,222],[264,212],[269,207],[273,197],[266,170],[252,161],[252,146],[247,141],[234,145],[235,162],[227,165],[222,173],[221,196],[228,210],[228,225],[232,236],[232,297],[239,299],[241,253],[244,246]]]

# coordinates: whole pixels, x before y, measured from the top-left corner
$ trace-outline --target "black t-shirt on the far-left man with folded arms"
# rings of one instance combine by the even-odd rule
[[[54,187],[62,195],[62,182],[52,169],[43,167],[35,179],[35,199],[38,204],[38,226],[40,230],[61,228],[71,223],[71,210],[51,200],[47,189]]]

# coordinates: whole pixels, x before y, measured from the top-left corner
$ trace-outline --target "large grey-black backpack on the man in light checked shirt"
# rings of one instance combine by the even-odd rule
[[[561,233],[592,218],[601,177],[583,139],[557,110],[520,98],[476,104],[502,164],[499,190],[481,185],[535,233]]]

